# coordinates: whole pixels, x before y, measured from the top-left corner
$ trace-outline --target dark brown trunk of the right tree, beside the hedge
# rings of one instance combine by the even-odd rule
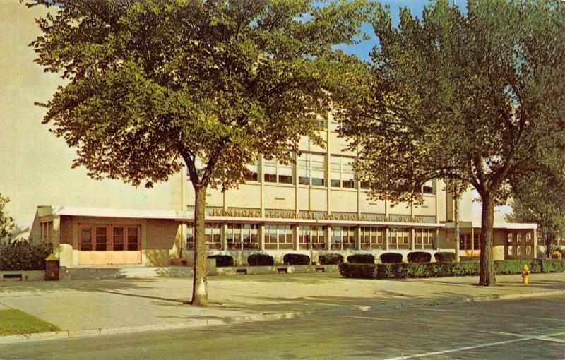
[[[496,286],[494,277],[494,260],[492,259],[493,227],[494,227],[494,194],[481,195],[481,270],[479,285]]]

